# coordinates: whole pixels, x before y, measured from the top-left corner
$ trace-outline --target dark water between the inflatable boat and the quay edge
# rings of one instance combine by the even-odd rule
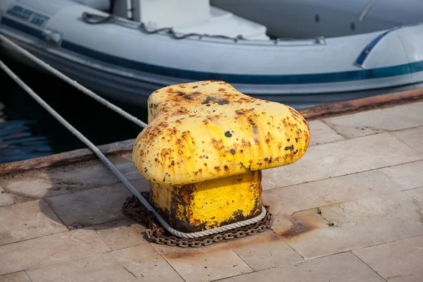
[[[53,76],[0,59],[95,145],[135,138],[141,128]],[[142,121],[146,111],[117,104]],[[85,145],[0,70],[0,164],[85,148]]]

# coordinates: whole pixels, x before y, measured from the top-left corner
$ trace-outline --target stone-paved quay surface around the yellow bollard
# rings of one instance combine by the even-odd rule
[[[423,102],[309,125],[305,156],[263,171],[271,230],[200,248],[148,243],[85,150],[2,166],[0,281],[423,281]],[[103,149],[147,190],[122,144]]]

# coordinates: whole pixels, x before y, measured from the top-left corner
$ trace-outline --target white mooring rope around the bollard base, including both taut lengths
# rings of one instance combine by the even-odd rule
[[[35,56],[32,56],[29,52],[25,51],[24,49],[22,49],[18,45],[14,44],[13,42],[11,42],[9,39],[4,37],[3,35],[0,35],[0,39],[3,40],[4,42],[10,44],[14,49],[20,51],[20,53],[25,54],[25,56],[27,56],[27,58],[30,59],[31,61],[35,61],[36,63],[39,63],[39,65],[43,66],[43,67],[47,66],[49,71],[51,71],[52,73],[54,73],[56,75],[58,75],[58,73],[60,73],[59,71],[56,71],[56,69],[47,65],[47,63],[44,63],[43,61],[37,59]],[[79,140],[84,142],[85,145],[87,145],[87,147],[89,147],[92,150],[92,152],[94,152],[94,154],[97,154],[97,157],[99,157],[99,159],[101,161],[103,161],[103,163],[107,166],[107,168],[109,168],[114,173],[114,175],[117,178],[119,178],[119,180],[121,180],[123,185],[125,185],[125,187],[128,188],[130,190],[130,192],[133,192],[135,197],[137,197],[137,199],[140,200],[141,204],[148,211],[152,212],[154,214],[154,216],[156,216],[157,221],[159,221],[159,223],[161,223],[161,225],[166,229],[166,231],[168,231],[172,235],[175,235],[176,237],[180,237],[180,238],[189,238],[189,239],[201,238],[201,237],[204,237],[204,236],[207,236],[207,235],[222,233],[224,231],[230,231],[230,230],[233,230],[235,228],[240,228],[240,227],[243,227],[243,226],[248,226],[248,225],[253,224],[253,223],[257,223],[257,222],[261,221],[262,219],[264,219],[264,217],[266,216],[266,209],[264,207],[262,207],[262,212],[258,216],[254,217],[252,219],[247,219],[245,221],[235,222],[235,223],[228,224],[226,226],[220,226],[220,227],[209,229],[209,230],[206,230],[206,231],[199,231],[199,232],[193,232],[193,233],[184,233],[184,232],[177,231],[176,229],[172,228],[160,216],[159,213],[156,212],[156,210],[152,207],[152,205],[149,204],[149,202],[147,202],[147,200],[145,200],[144,197],[142,197],[140,192],[138,192],[138,190],[136,190],[134,188],[134,186],[128,181],[128,179],[126,179],[125,176],[123,176],[122,173],[120,171],[118,171],[118,168],[116,168],[116,166],[114,166],[114,164],[112,164],[111,161],[109,161],[109,159],[107,159],[107,157],[104,156],[104,154],[94,144],[92,144],[92,142],[90,142],[90,140],[87,139],[87,137],[82,135],[82,133],[80,133],[76,128],[74,128],[70,123],[68,123],[68,121],[66,121],[62,116],[60,116],[56,111],[54,111],[54,109],[52,109],[51,106],[49,106],[49,104],[44,102],[44,100],[41,97],[39,97],[30,87],[28,87],[25,84],[25,82],[20,80],[20,78],[18,78],[18,76],[15,73],[13,73],[13,71],[11,71],[11,69],[8,68],[8,66],[6,66],[6,64],[3,63],[3,61],[0,61],[0,68],[3,71],[5,71],[13,80],[15,80],[15,82],[18,83],[18,85],[20,87],[22,87],[23,90],[25,90],[28,94],[30,94],[30,96],[32,98],[34,98],[35,101],[37,101],[44,109],[46,109],[46,111],[48,111],[49,114],[54,116],[54,118],[56,118],[63,126],[65,126],[69,131],[71,131],[71,133],[73,133],[73,135],[75,135],[76,137],[79,138]],[[73,86],[78,85],[78,87],[75,86],[75,87],[78,88],[78,90],[81,90],[85,94],[90,93],[90,94],[88,94],[88,95],[90,95],[90,97],[93,97],[94,99],[96,99],[100,103],[104,104],[105,106],[108,106],[110,109],[113,109],[118,114],[125,116],[130,121],[133,121],[134,123],[137,123],[138,125],[140,125],[142,127],[147,126],[145,123],[138,120],[134,116],[131,116],[130,114],[123,111],[122,109],[118,108],[117,106],[114,106],[114,104],[111,104],[110,102],[106,101],[105,99],[99,97],[94,92],[92,92],[92,91],[88,90],[87,88],[83,87],[82,85],[78,84],[78,82],[75,82],[75,81],[71,80],[70,78],[66,77],[66,75],[63,75],[63,73],[60,73],[60,75],[63,76],[63,78],[66,78],[66,79],[63,79],[63,80],[66,80],[67,82],[71,83],[71,85],[73,85]],[[141,125],[141,124],[143,124],[143,125]]]

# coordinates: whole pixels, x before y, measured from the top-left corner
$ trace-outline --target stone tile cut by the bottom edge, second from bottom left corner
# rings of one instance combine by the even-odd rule
[[[31,269],[27,274],[32,282],[137,281],[133,274],[107,254]]]

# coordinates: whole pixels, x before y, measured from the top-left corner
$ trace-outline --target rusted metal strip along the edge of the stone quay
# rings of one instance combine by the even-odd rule
[[[404,104],[419,99],[423,99],[423,89],[355,99],[333,104],[312,106],[300,110],[300,114],[302,114],[302,116],[305,118],[312,120],[324,116],[345,114],[352,111],[374,109],[379,106]],[[99,149],[107,156],[127,154],[132,152],[134,141],[135,139],[114,142],[108,145],[99,146]],[[35,159],[27,159],[24,161],[15,161],[8,164],[0,164],[0,175],[30,171],[33,169],[46,168],[51,166],[66,166],[82,161],[90,161],[96,158],[96,155],[92,153],[90,149],[77,149],[61,154],[53,154],[47,157],[39,157]]]

